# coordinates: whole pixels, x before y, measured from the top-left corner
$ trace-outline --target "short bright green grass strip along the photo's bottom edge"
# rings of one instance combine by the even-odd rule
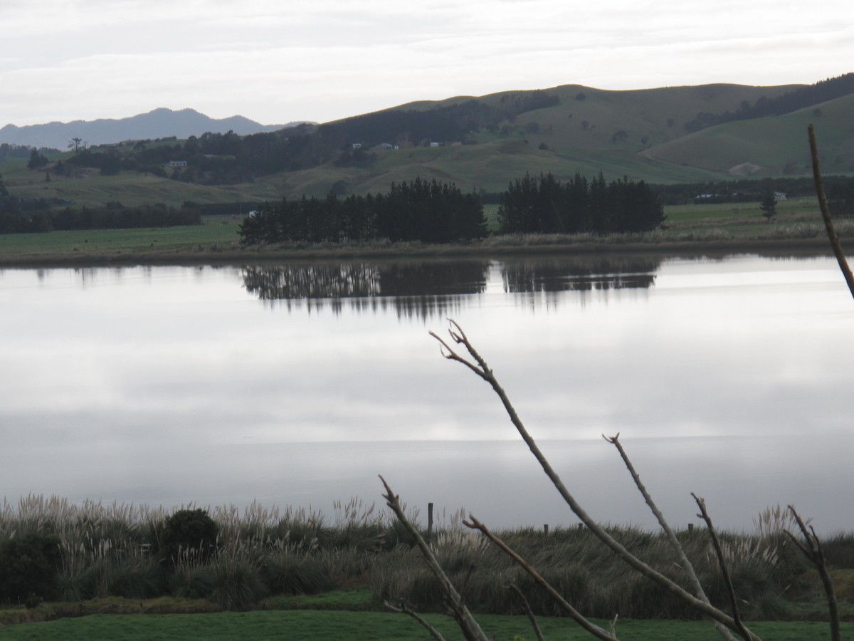
[[[447,639],[461,639],[454,621],[444,615],[424,615]],[[495,639],[534,639],[524,616],[478,615],[484,632]],[[543,635],[550,639],[591,638],[575,622],[557,617],[540,617]],[[607,627],[607,622],[597,621]],[[817,622],[771,622],[750,624],[753,632],[774,641],[812,641],[828,636],[828,625]],[[842,624],[845,636],[854,633],[854,624]],[[623,641],[713,641],[720,638],[706,621],[621,620],[617,633]],[[221,612],[208,615],[89,615],[44,623],[0,628],[0,638],[8,639],[233,639],[282,638],[338,641],[380,639],[424,639],[423,627],[406,615],[384,612],[344,612],[285,610]]]

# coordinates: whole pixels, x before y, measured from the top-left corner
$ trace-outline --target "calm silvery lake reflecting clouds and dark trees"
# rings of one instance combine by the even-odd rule
[[[854,529],[854,303],[830,258],[0,270],[0,497],[576,522],[447,317],[602,521]]]

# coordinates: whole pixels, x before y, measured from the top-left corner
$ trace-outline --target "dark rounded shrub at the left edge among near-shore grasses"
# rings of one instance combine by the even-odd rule
[[[56,591],[59,538],[27,534],[0,544],[0,600],[49,598]]]

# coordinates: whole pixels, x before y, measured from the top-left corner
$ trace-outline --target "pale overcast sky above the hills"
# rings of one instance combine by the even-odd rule
[[[555,85],[812,83],[852,61],[850,0],[0,0],[0,126],[325,122]]]

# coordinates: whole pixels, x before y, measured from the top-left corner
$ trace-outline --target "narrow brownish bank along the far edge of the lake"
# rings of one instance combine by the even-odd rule
[[[245,250],[161,250],[100,253],[63,252],[0,256],[0,268],[100,267],[109,265],[234,264],[246,262],[441,259],[502,256],[592,256],[597,254],[658,254],[672,256],[726,256],[770,253],[797,256],[832,255],[826,237],[728,239],[707,241],[623,242],[538,242],[535,244],[442,244],[342,246],[314,248],[268,248]]]

